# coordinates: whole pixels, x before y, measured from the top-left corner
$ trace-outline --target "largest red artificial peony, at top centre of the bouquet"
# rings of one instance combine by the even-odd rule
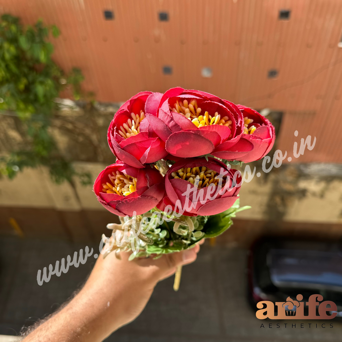
[[[181,158],[213,153],[221,145],[229,149],[243,132],[244,119],[234,103],[198,90],[177,87],[154,93],[147,98],[145,113],[167,152]],[[236,148],[246,153],[253,144],[244,140]]]

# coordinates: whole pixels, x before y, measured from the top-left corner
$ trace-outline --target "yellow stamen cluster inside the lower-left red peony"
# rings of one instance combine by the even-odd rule
[[[107,194],[118,194],[120,196],[127,196],[136,190],[136,178],[129,176],[126,173],[116,171],[108,175],[110,183],[102,184],[103,192]]]

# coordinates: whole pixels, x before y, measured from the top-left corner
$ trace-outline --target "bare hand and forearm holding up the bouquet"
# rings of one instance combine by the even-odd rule
[[[28,341],[102,341],[134,320],[144,309],[157,282],[175,273],[176,267],[192,263],[200,244],[161,258],[134,259],[121,252],[98,257],[82,290],[60,312],[28,335]]]

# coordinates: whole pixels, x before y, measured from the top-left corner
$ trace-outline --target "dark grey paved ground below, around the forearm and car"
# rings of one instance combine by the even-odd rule
[[[15,335],[21,327],[53,312],[91,271],[92,257],[67,274],[37,284],[37,271],[66,258],[85,245],[63,241],[0,237],[0,334]],[[175,341],[341,341],[342,323],[311,328],[303,320],[260,321],[246,297],[246,256],[240,248],[203,246],[196,263],[183,268],[181,287],[173,279],[158,284],[143,313],[111,335],[107,342]],[[31,318],[30,318],[31,317]],[[265,328],[260,328],[261,324]],[[268,324],[272,323],[273,328]],[[280,328],[276,328],[276,323]],[[304,328],[300,328],[304,323]],[[292,328],[292,324],[296,327]]]

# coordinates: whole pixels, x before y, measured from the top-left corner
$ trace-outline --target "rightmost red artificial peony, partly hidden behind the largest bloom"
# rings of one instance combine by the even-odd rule
[[[249,142],[253,145],[253,148],[250,151],[244,152],[239,149],[238,144],[230,148],[227,148],[225,144],[221,144],[215,148],[212,154],[218,158],[236,159],[246,163],[261,159],[266,156],[274,144],[274,127],[271,122],[257,111],[241,105],[238,105],[238,108],[241,110],[245,122],[244,134],[242,134],[239,140],[239,145]]]

